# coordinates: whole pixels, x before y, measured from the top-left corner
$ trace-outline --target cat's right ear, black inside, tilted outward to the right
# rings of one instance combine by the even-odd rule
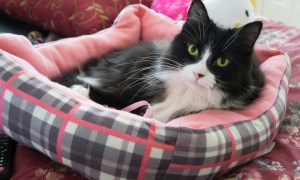
[[[238,37],[245,48],[252,49],[257,38],[260,35],[263,23],[261,21],[255,21],[248,23],[238,29]]]

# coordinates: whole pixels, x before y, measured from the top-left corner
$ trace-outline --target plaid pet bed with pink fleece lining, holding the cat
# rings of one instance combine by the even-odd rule
[[[0,129],[89,179],[213,179],[264,153],[286,109],[286,54],[257,48],[262,97],[242,111],[206,110],[166,124],[96,104],[48,78],[180,24],[142,5],[93,35],[32,46],[0,35]]]

